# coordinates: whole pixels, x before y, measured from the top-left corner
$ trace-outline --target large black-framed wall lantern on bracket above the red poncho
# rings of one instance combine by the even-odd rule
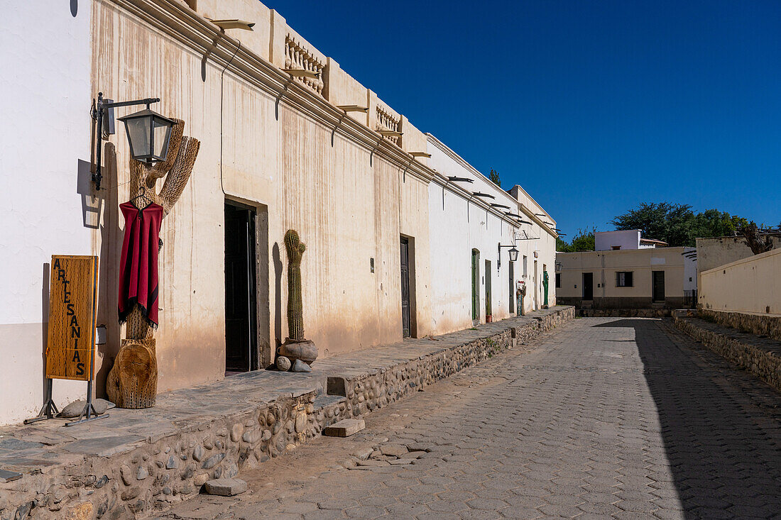
[[[112,102],[103,99],[103,93],[98,92],[98,101],[92,111],[92,119],[98,122],[98,149],[95,151],[95,172],[92,173],[92,181],[95,182],[95,190],[100,191],[100,183],[103,178],[101,173],[100,141],[103,137],[103,125],[107,126],[108,134],[114,133],[114,111],[119,106],[147,105],[140,112],[134,112],[128,116],[119,117],[119,121],[125,123],[127,141],[130,144],[130,155],[137,161],[151,165],[153,162],[165,161],[168,157],[168,145],[171,139],[171,130],[174,121],[149,108],[152,103],[157,103],[160,98],[137,99],[129,102]]]

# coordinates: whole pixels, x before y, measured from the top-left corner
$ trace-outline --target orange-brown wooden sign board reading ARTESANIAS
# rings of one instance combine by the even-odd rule
[[[46,377],[91,381],[98,257],[52,255],[49,287]]]

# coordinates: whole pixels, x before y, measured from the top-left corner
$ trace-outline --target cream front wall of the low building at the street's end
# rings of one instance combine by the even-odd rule
[[[684,248],[558,253],[560,297],[583,296],[583,272],[594,273],[594,297],[651,297],[653,271],[665,272],[665,296],[683,297]],[[633,272],[633,287],[615,287],[615,273]],[[597,283],[601,287],[597,287]]]

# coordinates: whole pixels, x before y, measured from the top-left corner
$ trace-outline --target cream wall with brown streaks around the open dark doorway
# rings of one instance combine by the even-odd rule
[[[224,9],[214,16],[227,17],[229,9]],[[358,142],[346,130],[334,134],[332,146],[335,125],[299,108],[294,91],[276,109],[273,93],[231,69],[224,74],[221,99],[223,63],[208,59],[201,80],[203,55],[194,48],[126,16],[112,2],[97,3],[95,10],[102,23],[95,27],[94,90],[115,99],[159,96],[162,102],[155,108],[185,119],[185,134],[201,140],[187,190],[161,231],[162,311],[156,334],[161,391],[223,376],[226,198],[268,208],[273,341],[287,336],[287,260],[281,240],[290,228],[307,244],[301,265],[305,329],[321,357],[401,339],[401,234],[415,240],[415,321],[419,334],[429,333],[428,194],[418,163],[410,168],[408,161],[389,162],[382,150],[370,160],[376,141]],[[250,14],[237,16],[250,19]],[[355,82],[347,90],[346,95],[355,94]],[[415,131],[408,125],[411,136]],[[122,134],[112,141],[119,167],[116,179],[106,182],[122,184],[127,182],[127,144]],[[111,204],[115,208],[128,197],[121,186],[119,191]],[[98,248],[104,240],[111,239],[96,233]],[[369,258],[375,258],[374,273]],[[110,287],[116,280],[109,276],[104,283]],[[115,306],[113,299],[102,305],[110,329],[106,368],[119,346],[119,328],[110,325]]]

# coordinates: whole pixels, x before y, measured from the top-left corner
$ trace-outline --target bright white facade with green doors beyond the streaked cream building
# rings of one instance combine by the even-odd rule
[[[518,194],[518,198],[514,197],[497,187],[437,137],[431,134],[426,134],[426,137],[427,151],[431,155],[429,166],[437,173],[429,184],[432,329],[436,333],[446,333],[472,326],[473,250],[479,251],[480,255],[480,304],[476,322],[486,321],[487,284],[490,284],[490,309],[494,320],[505,319],[517,312],[515,290],[519,281],[526,283],[524,311],[540,308],[544,303],[544,270],[550,273],[548,305],[555,305],[555,235],[552,230],[544,230],[547,227],[544,224],[533,221],[538,219],[534,213],[542,213],[541,208],[522,188],[513,188],[512,191]],[[462,177],[473,182],[448,180],[448,177]],[[473,196],[475,192],[490,194],[494,198]],[[509,209],[492,208],[491,203],[505,205]],[[533,223],[517,224],[505,212],[520,215]],[[555,221],[547,216],[544,218],[555,227]],[[512,267],[508,254],[510,248],[503,247],[500,251],[500,244],[514,245],[519,250],[518,259]]]

